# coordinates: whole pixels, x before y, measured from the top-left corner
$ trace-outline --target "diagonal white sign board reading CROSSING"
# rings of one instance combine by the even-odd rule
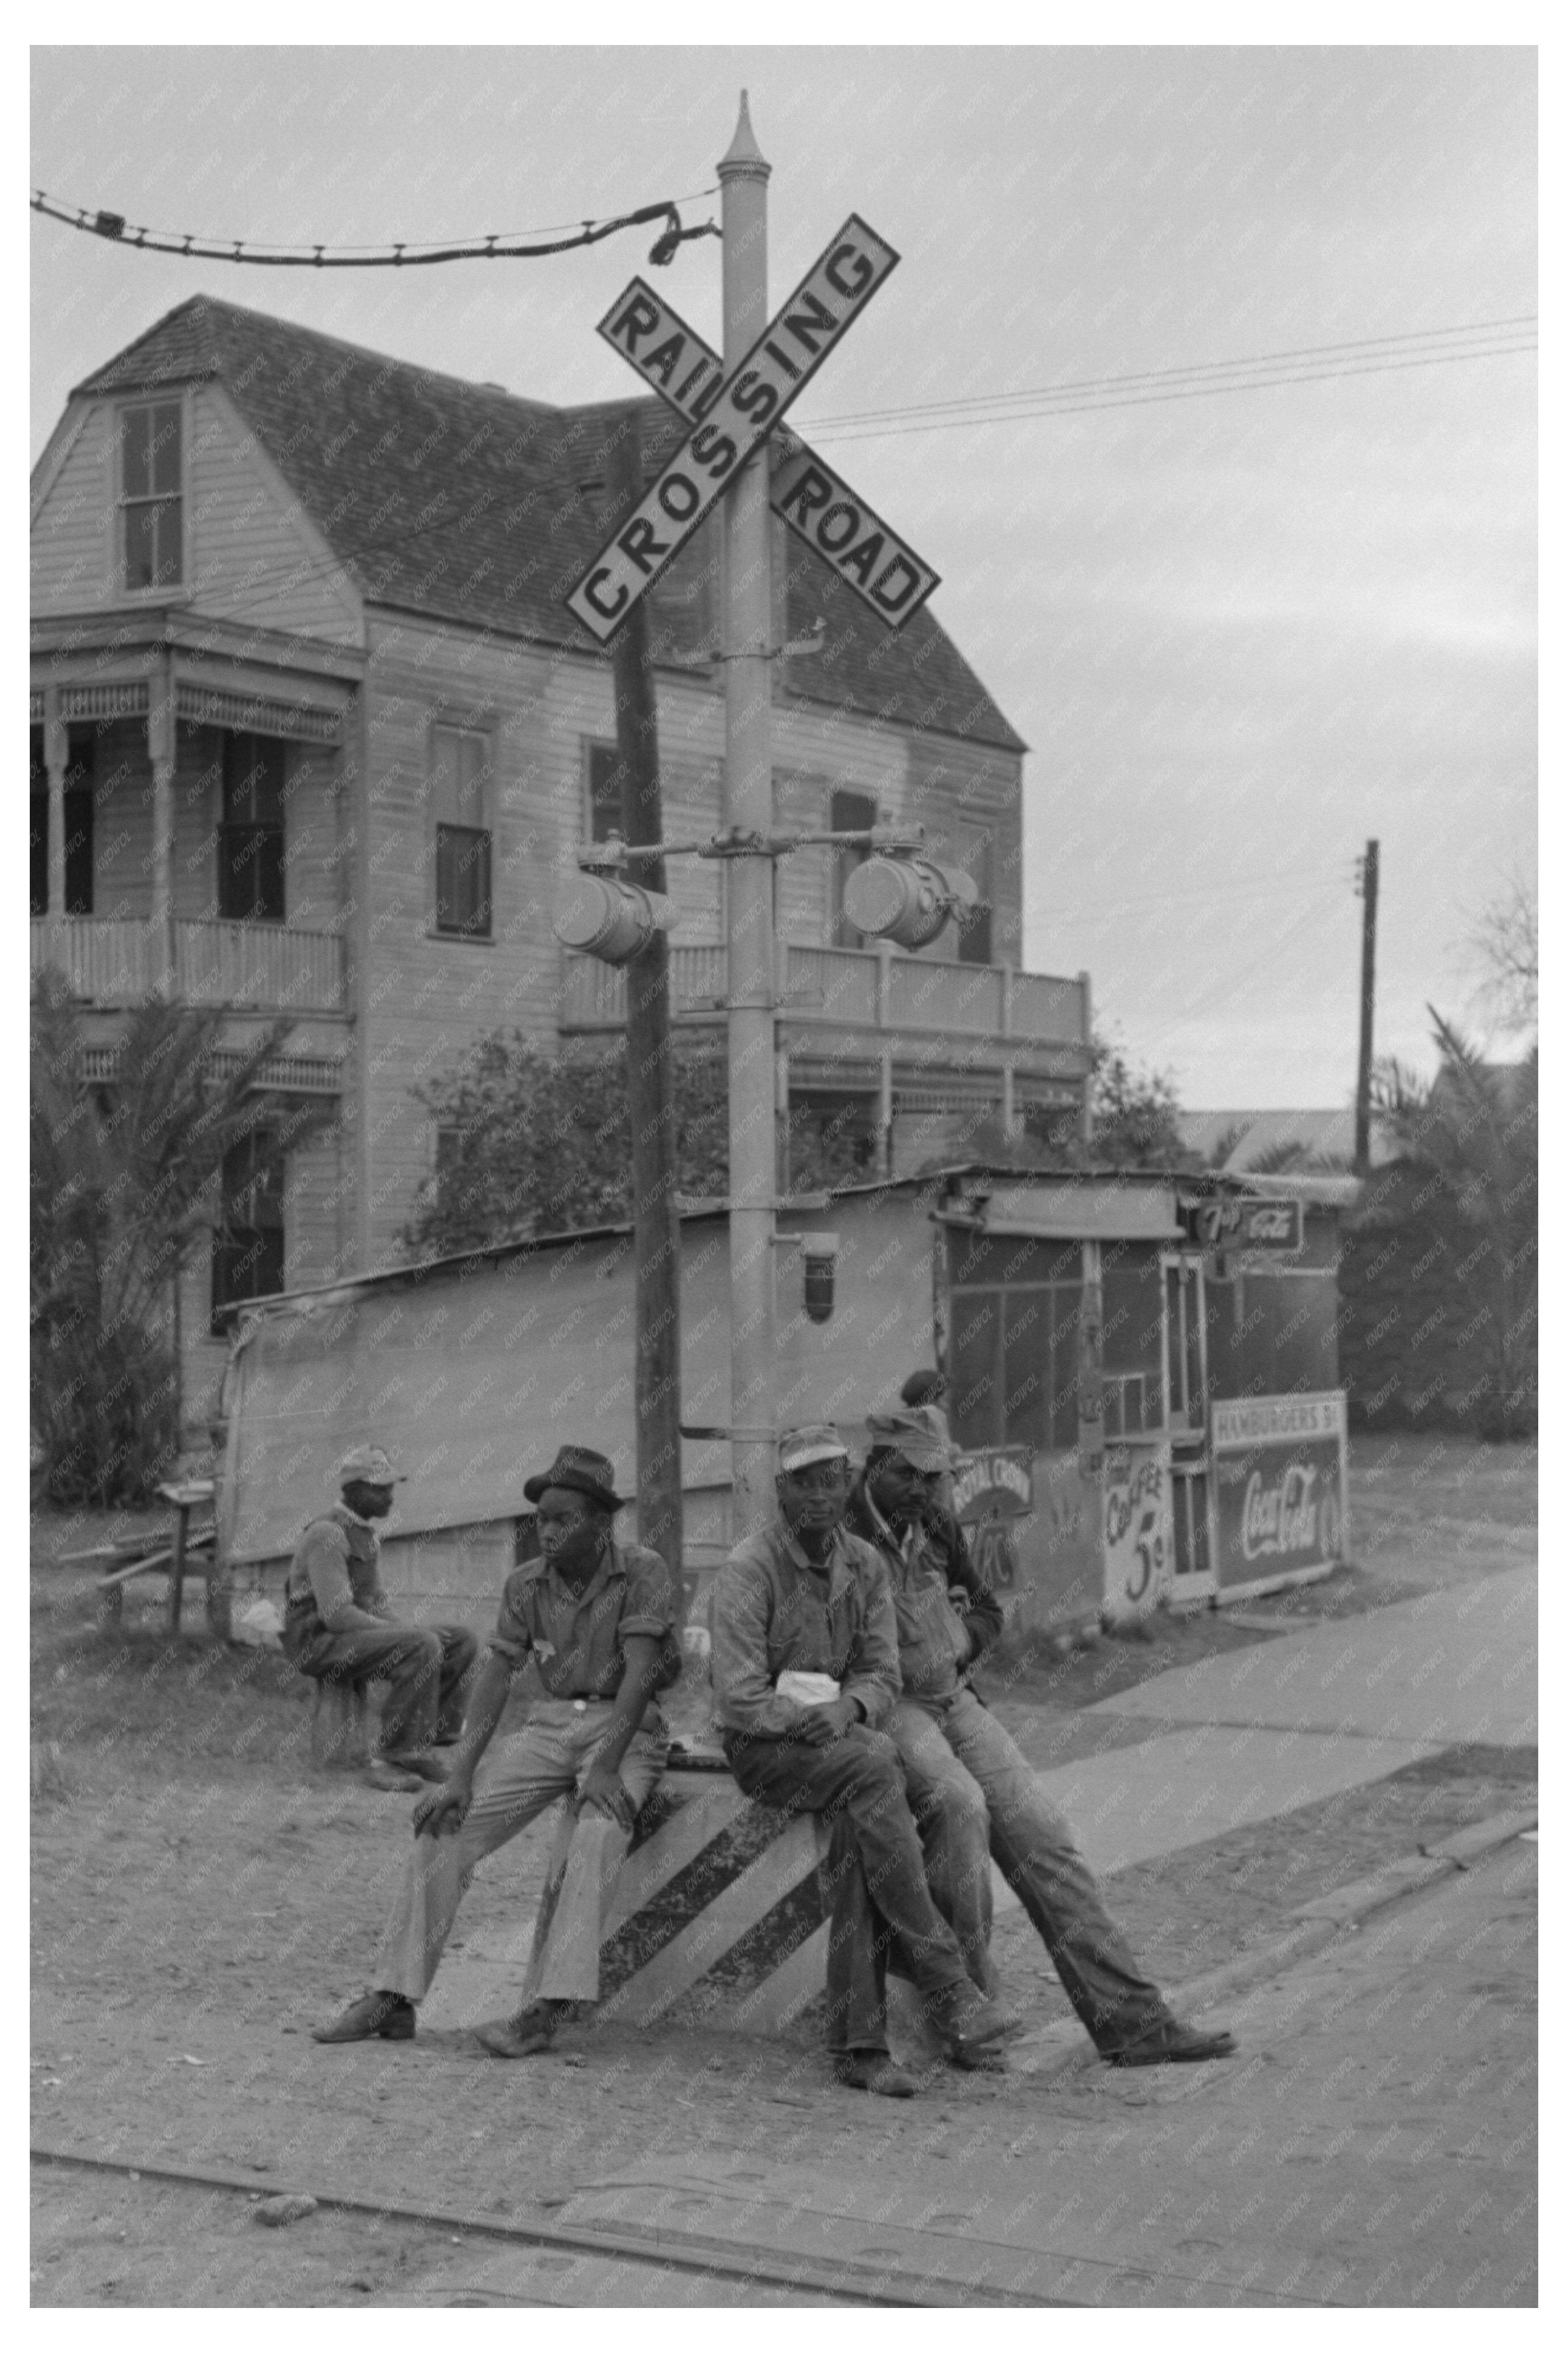
[[[635,513],[567,593],[567,609],[597,645],[675,562],[752,449],[797,400],[835,344],[853,327],[898,254],[851,212],[783,311],[703,409]]]

